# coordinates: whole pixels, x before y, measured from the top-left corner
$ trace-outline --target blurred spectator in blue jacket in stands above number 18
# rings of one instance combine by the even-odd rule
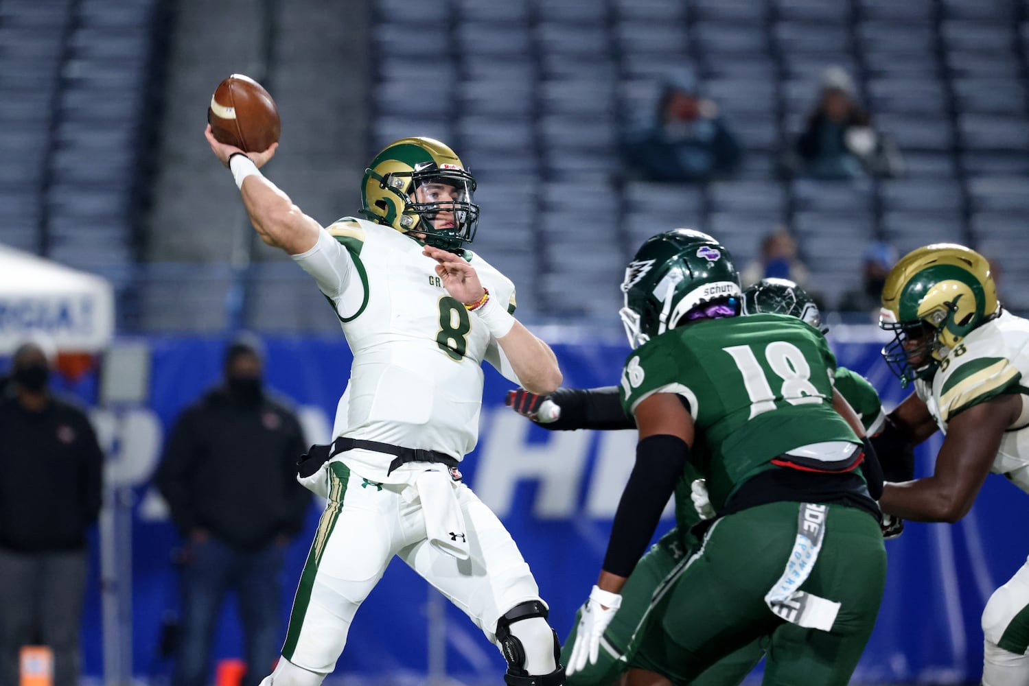
[[[702,182],[731,174],[741,151],[717,106],[689,70],[665,80],[657,112],[622,136],[626,165],[648,181]]]

